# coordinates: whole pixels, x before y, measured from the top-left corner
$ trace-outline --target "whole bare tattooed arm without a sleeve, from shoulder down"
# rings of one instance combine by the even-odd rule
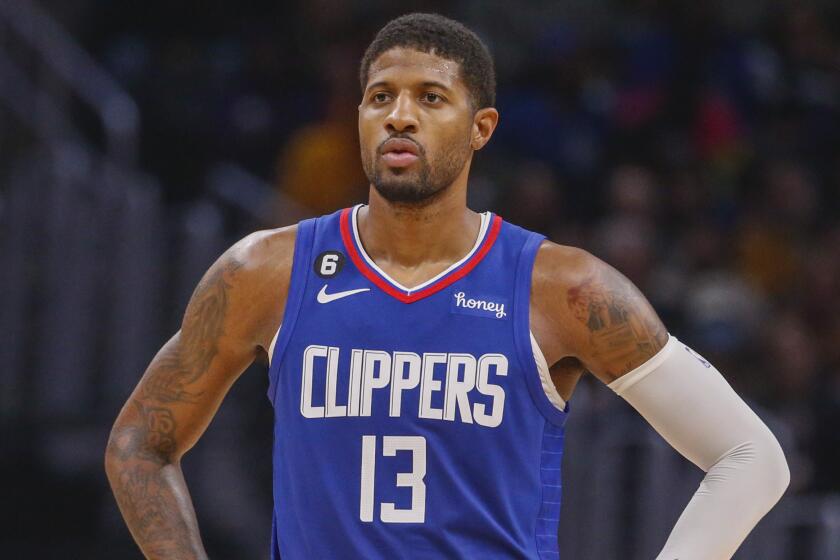
[[[207,557],[180,460],[233,382],[267,351],[282,318],[295,230],[249,235],[213,263],[180,330],[149,364],[114,423],[105,470],[147,558]]]

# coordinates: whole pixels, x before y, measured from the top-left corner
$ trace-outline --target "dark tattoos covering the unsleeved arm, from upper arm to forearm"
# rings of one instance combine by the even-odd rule
[[[219,353],[230,279],[241,266],[221,261],[199,282],[180,332],[155,356],[111,432],[108,479],[147,558],[207,557],[179,459],[191,444],[183,434],[206,426],[215,411],[202,378]]]

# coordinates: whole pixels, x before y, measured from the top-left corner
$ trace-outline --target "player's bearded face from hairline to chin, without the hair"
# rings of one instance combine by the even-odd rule
[[[404,48],[371,64],[359,142],[365,174],[386,200],[430,202],[477,149],[475,115],[459,72],[456,62]]]

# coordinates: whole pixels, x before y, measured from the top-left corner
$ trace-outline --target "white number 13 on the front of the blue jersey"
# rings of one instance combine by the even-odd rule
[[[411,472],[397,473],[397,486],[411,488],[411,507],[397,509],[382,502],[379,518],[384,523],[423,523],[426,520],[426,438],[423,436],[382,436],[382,455],[411,451]],[[359,518],[373,521],[373,482],[376,479],[376,436],[362,436],[362,496]]]

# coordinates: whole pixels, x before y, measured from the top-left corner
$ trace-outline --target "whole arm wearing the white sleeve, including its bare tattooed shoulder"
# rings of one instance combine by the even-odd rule
[[[564,326],[562,353],[706,472],[657,560],[731,558],[788,486],[776,438],[720,372],[669,335],[633,283],[603,261],[544,243],[534,287],[553,314],[548,322]]]

